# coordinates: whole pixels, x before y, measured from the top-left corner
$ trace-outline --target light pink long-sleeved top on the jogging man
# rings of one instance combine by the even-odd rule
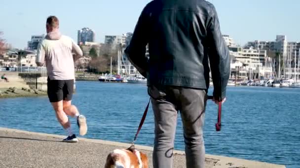
[[[50,80],[75,80],[72,52],[82,56],[80,47],[72,38],[59,32],[50,32],[38,44],[36,62],[39,66],[46,64]]]

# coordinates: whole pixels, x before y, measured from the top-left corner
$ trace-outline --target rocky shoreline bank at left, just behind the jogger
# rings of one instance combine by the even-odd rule
[[[0,98],[13,98],[13,97],[36,97],[45,96],[46,91],[22,88],[18,89],[16,87],[0,88]]]

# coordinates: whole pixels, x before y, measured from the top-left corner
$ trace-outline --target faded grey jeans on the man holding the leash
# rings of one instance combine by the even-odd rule
[[[207,91],[178,86],[149,86],[154,112],[154,168],[173,168],[173,148],[180,112],[187,168],[205,168],[203,125]]]

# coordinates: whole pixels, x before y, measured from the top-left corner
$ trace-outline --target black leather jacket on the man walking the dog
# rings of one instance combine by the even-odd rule
[[[149,44],[150,57],[145,56]],[[224,98],[230,58],[213,4],[205,0],[152,0],[125,50],[148,85],[208,89]]]

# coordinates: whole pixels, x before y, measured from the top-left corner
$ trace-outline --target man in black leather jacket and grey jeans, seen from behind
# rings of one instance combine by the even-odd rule
[[[214,5],[205,0],[152,0],[143,9],[125,54],[147,77],[155,123],[153,167],[173,167],[180,111],[187,168],[205,168],[202,128],[209,72],[217,103],[225,101],[230,69]]]

